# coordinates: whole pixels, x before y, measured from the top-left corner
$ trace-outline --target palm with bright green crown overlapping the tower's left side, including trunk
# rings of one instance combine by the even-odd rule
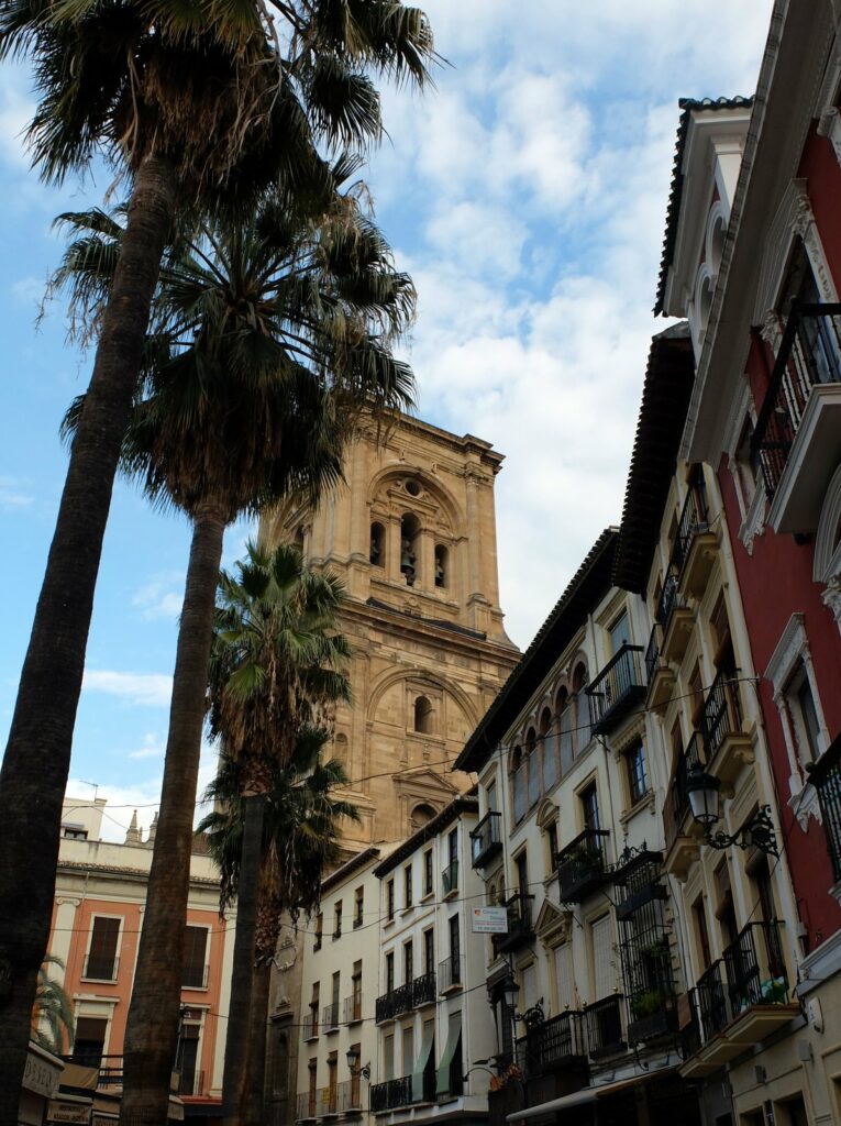
[[[225,1038],[224,1117],[244,1108],[252,968],[265,808],[272,768],[287,765],[298,734],[335,701],[350,701],[341,671],[350,649],[335,634],[340,580],[305,566],[301,552],[248,545],[239,578],[223,572],[211,661],[211,731],[241,763],[242,852],[238,878],[231,1007]],[[272,949],[274,955],[274,949]]]

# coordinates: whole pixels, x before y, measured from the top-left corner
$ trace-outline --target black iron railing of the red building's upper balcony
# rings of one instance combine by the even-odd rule
[[[751,439],[773,497],[816,384],[841,382],[841,304],[793,302]]]

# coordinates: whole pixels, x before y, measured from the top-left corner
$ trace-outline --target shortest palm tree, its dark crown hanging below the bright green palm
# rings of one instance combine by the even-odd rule
[[[319,908],[321,881],[340,856],[343,819],[359,820],[355,805],[333,797],[348,784],[337,759],[322,761],[329,741],[323,727],[307,725],[298,735],[292,760],[272,763],[263,820],[259,877],[256,956],[252,974],[251,1022],[247,1045],[248,1098],[245,1123],[262,1121],[271,964],[280,936],[281,917],[293,922]],[[211,856],[220,866],[220,912],[235,899],[242,857],[242,765],[223,753],[220,770],[205,797],[217,803],[198,825],[207,834]],[[240,1004],[231,994],[231,1008]]]

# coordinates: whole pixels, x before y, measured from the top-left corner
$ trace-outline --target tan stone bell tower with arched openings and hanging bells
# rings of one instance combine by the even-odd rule
[[[466,788],[450,766],[517,662],[499,606],[501,463],[486,441],[401,417],[350,447],[314,515],[263,526],[347,587],[354,704],[337,713],[333,753],[363,817],[351,848],[405,837]]]

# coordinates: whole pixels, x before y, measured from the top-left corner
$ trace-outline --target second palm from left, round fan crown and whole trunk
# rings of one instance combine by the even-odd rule
[[[173,245],[124,440],[126,470],[194,528],[126,1030],[124,1115],[152,1098],[156,1114],[165,1110],[224,529],[292,490],[317,495],[340,473],[361,406],[388,411],[411,401],[411,370],[391,352],[413,315],[411,280],[394,269],[356,195],[337,195],[326,214],[319,206],[306,195],[274,194],[247,221],[205,223]],[[118,216],[62,218],[79,238],[56,284],[70,284],[75,307],[96,306],[118,257]],[[71,432],[87,410],[87,397],[73,405]]]

